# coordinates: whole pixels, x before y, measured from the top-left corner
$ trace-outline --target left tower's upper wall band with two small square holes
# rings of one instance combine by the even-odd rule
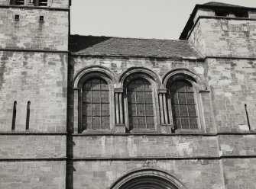
[[[68,11],[1,8],[0,49],[66,51],[68,14]],[[15,15],[19,15],[18,21]],[[40,21],[40,16],[44,21]]]

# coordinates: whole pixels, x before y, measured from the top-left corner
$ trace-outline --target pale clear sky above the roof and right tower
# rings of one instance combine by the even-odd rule
[[[72,0],[71,34],[177,40],[196,4],[211,0]],[[256,0],[215,2],[256,8]]]

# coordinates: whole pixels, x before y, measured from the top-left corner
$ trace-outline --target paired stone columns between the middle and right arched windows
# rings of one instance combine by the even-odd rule
[[[167,89],[158,90],[159,110],[160,110],[160,131],[161,133],[171,133],[170,114],[168,112]]]

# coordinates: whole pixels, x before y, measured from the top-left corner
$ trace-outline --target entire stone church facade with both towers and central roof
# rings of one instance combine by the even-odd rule
[[[69,0],[0,0],[0,188],[256,189],[256,8],[180,40],[70,35]]]

